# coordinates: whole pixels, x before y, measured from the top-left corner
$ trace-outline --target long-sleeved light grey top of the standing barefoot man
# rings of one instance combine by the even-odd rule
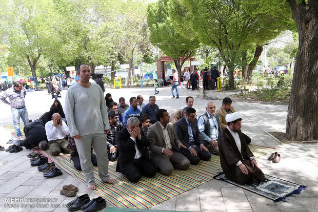
[[[98,84],[84,88],[76,83],[65,98],[65,116],[70,135],[91,135],[109,130],[109,120],[103,91]]]

